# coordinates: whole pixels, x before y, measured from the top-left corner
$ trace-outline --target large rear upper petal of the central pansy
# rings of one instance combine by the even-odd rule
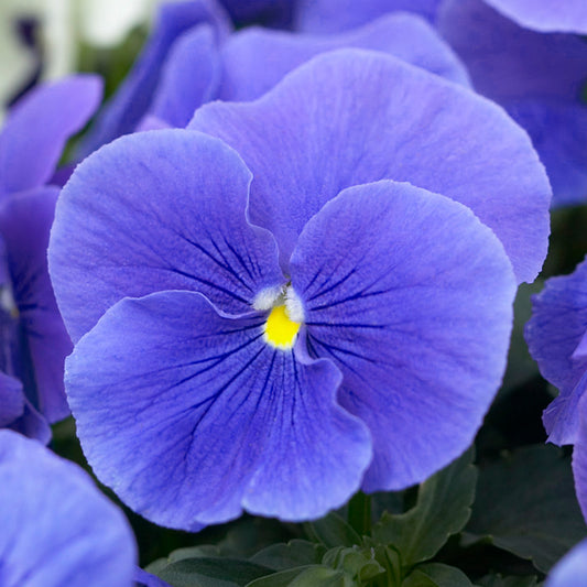
[[[546,254],[551,188],[526,133],[492,102],[390,55],[319,55],[254,102],[203,106],[188,128],[242,156],[254,176],[251,220],[275,235],[284,270],[326,202],[381,178],[468,206],[520,281]]]

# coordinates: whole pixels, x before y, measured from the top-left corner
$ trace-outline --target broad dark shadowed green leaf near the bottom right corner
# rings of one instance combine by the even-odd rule
[[[547,573],[585,535],[570,459],[561,449],[524,447],[481,470],[469,544],[486,537]]]

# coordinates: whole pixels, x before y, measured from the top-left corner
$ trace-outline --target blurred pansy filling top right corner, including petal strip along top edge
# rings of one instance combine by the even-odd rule
[[[584,0],[301,0],[297,28],[334,33],[398,10],[435,24],[475,90],[530,133],[553,185],[553,206],[586,202],[587,43],[578,36],[587,32]]]

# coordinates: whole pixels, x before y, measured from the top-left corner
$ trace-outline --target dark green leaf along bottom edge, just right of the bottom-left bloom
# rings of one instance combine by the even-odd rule
[[[183,558],[157,570],[172,587],[243,587],[270,575],[268,567],[238,558]]]

